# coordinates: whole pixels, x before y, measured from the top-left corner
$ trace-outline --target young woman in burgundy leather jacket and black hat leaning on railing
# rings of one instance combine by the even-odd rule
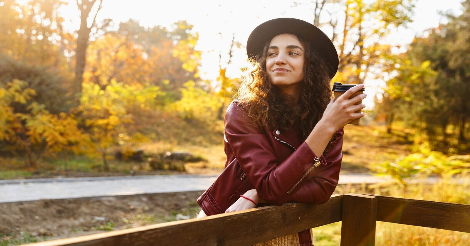
[[[256,67],[225,117],[226,169],[198,199],[206,215],[285,202],[329,200],[341,168],[343,127],[364,114],[356,85],[331,99],[338,56],[314,25],[280,18],[254,29],[247,53]],[[263,245],[312,245],[310,230]]]

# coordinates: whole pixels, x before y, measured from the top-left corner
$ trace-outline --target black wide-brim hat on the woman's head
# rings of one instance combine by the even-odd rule
[[[335,76],[338,70],[338,54],[331,40],[318,27],[295,18],[273,19],[256,27],[246,43],[248,58],[251,60],[257,54],[261,54],[266,43],[282,33],[295,34],[309,41],[318,50],[320,56],[325,59],[326,64],[329,65],[330,79]]]

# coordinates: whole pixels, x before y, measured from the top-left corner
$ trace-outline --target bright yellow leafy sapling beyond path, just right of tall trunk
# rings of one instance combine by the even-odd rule
[[[164,95],[157,86],[136,86],[112,80],[105,88],[83,83],[80,105],[75,109],[80,126],[93,142],[86,151],[102,159],[103,168],[110,170],[108,160],[115,148],[138,146],[153,135],[145,131],[148,118],[158,108],[155,98]]]

